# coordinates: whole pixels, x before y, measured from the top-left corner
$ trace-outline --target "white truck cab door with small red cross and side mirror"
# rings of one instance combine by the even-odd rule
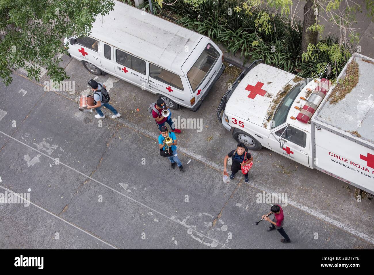
[[[274,152],[309,167],[309,135],[285,124],[270,133],[269,146]]]

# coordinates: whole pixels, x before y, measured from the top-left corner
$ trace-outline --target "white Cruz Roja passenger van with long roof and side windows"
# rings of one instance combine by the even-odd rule
[[[209,37],[128,4],[98,16],[90,36],[65,38],[71,57],[162,98],[170,109],[197,111],[221,76],[223,53]]]

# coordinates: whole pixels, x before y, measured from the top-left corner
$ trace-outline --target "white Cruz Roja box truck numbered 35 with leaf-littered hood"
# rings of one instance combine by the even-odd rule
[[[249,150],[266,147],[374,194],[373,94],[374,59],[364,55],[353,54],[332,86],[257,60],[217,115]]]

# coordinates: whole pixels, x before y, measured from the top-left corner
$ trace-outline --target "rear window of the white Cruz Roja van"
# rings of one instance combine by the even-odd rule
[[[208,43],[202,54],[197,58],[195,64],[193,64],[187,73],[187,78],[193,92],[196,91],[197,87],[205,79],[219,56],[218,51],[212,44]]]

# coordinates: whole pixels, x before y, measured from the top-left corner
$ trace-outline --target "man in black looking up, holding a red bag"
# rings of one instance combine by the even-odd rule
[[[233,163],[231,165],[231,175],[230,180],[233,180],[237,171],[242,170],[244,174],[244,181],[245,183],[249,182],[248,173],[249,169],[251,168],[253,161],[253,157],[250,153],[246,152],[246,147],[244,143],[238,143],[236,150],[232,150],[225,156],[223,161],[224,170],[223,173],[227,174],[226,166],[227,166],[227,159],[232,158]],[[246,171],[246,173],[244,173]]]

